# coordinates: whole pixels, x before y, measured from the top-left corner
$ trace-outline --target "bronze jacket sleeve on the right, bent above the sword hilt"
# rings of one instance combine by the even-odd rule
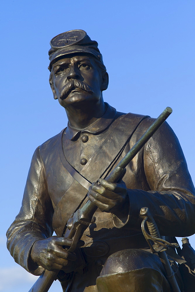
[[[153,119],[146,119],[146,129]],[[113,215],[116,227],[141,229],[139,216],[148,207],[161,235],[185,237],[195,233],[195,190],[180,143],[165,122],[140,151],[148,191],[127,190],[130,213],[127,220]],[[138,159],[139,160],[139,159]]]

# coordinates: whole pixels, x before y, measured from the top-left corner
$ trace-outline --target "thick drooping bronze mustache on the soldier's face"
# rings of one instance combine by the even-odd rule
[[[80,80],[73,79],[63,87],[60,98],[62,100],[67,98],[67,96],[70,94],[70,92],[75,88],[80,88],[83,91],[87,91],[89,93],[94,93],[93,89],[89,85],[87,85],[86,83],[84,83]]]

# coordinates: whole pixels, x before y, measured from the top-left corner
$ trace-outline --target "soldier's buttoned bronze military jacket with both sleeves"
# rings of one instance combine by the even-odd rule
[[[57,235],[62,235],[64,222],[60,223],[59,213],[55,214],[58,222],[52,225],[56,206],[63,198],[64,214],[75,211],[71,203],[74,202],[74,192],[70,199],[63,197],[74,183],[74,178],[63,166],[60,157],[64,155],[77,173],[81,173],[84,167],[87,173],[87,163],[99,151],[112,129],[110,144],[106,144],[104,155],[99,155],[93,164],[96,173],[106,160],[113,159],[112,153],[117,149],[118,154],[113,161],[109,161],[107,172],[102,176],[105,177],[154,121],[150,117],[130,114],[122,128],[129,139],[121,148],[122,134],[120,136],[114,125],[120,124],[125,114],[116,112],[108,104],[106,107],[105,114],[90,127],[78,131],[68,125],[34,152],[20,213],[7,232],[7,246],[11,255],[33,274],[39,275],[43,271],[42,267],[35,267],[30,258],[34,242],[52,236],[54,230]],[[139,123],[135,122],[134,125],[134,121],[138,120]],[[139,216],[142,207],[149,207],[161,235],[184,237],[195,233],[194,186],[179,141],[166,122],[128,164],[123,181],[127,185],[130,202],[128,217],[117,218],[98,209],[94,221],[83,234],[84,247],[92,245],[94,241],[109,241],[112,251],[112,242],[120,239],[119,248],[124,249],[122,243],[129,237],[132,238],[130,248],[146,247],[143,240],[138,242],[136,239],[142,237]],[[80,206],[86,200],[82,198]],[[128,248],[127,243],[125,248]]]

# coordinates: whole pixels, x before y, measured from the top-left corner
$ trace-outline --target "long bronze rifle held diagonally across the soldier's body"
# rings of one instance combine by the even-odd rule
[[[137,143],[131,148],[131,150],[125,155],[125,157],[119,162],[119,164],[113,169],[113,171],[106,178],[111,183],[116,183],[124,174],[125,167],[135,157],[135,155],[141,150],[145,143],[151,138],[156,130],[163,124],[163,122],[172,113],[172,109],[167,107],[162,114],[151,124],[148,130],[143,136],[137,141]],[[78,241],[83,235],[83,232],[87,229],[91,223],[92,217],[97,210],[97,206],[91,201],[81,208],[78,209],[68,220],[65,237],[73,239],[69,252],[74,252]],[[48,271],[45,270],[39,279],[34,283],[29,292],[47,292],[51,287],[51,284],[56,279],[59,271]]]

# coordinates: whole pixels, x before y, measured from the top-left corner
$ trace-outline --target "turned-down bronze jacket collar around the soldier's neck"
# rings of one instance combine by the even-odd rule
[[[113,119],[116,116],[116,109],[114,107],[111,107],[107,102],[104,103],[107,107],[106,112],[103,114],[103,116],[101,116],[101,118],[99,118],[89,127],[78,130],[71,127],[68,123],[68,126],[66,128],[66,135],[69,140],[78,139],[80,134],[83,132],[91,134],[101,133],[112,123]]]

